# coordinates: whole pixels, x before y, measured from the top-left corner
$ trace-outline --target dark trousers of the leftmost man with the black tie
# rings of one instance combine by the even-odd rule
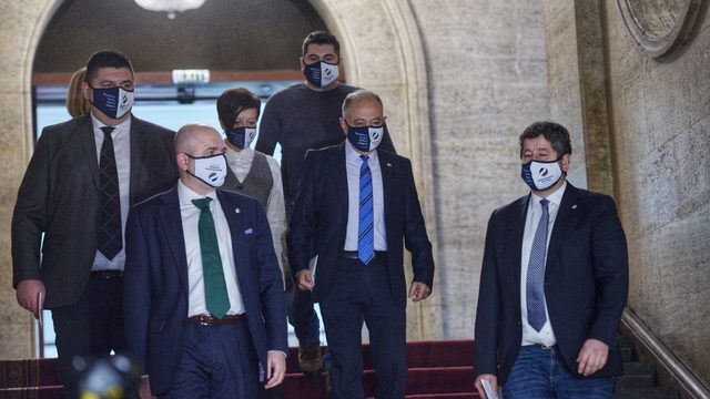
[[[123,334],[123,279],[118,274],[92,273],[79,300],[52,309],[57,335],[59,378],[64,395],[75,392],[75,356],[104,356],[125,349]]]

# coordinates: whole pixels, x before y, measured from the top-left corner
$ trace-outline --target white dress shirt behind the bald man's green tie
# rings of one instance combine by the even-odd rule
[[[245,311],[242,294],[236,279],[234,267],[234,255],[232,252],[232,235],[226,217],[220,206],[216,193],[207,194],[210,211],[214,219],[214,228],[217,234],[220,246],[220,258],[224,270],[226,293],[230,297],[230,310],[227,315],[240,315]],[[197,222],[200,221],[200,208],[192,203],[192,200],[204,198],[192,190],[187,188],[182,181],[178,182],[178,197],[180,198],[180,215],[182,218],[182,231],[185,239],[185,255],[187,256],[187,317],[207,314],[207,306],[204,298],[204,275],[202,270],[202,253],[200,252],[200,232]]]

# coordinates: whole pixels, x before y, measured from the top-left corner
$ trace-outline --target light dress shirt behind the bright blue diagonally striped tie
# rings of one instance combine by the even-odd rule
[[[347,234],[343,250],[357,250],[359,224],[359,168],[363,165],[361,154],[345,141],[345,168],[347,171]],[[377,150],[367,160],[373,176],[373,211],[375,228],[375,250],[387,250],[387,231],[385,228],[385,197],[382,187],[382,168]]]

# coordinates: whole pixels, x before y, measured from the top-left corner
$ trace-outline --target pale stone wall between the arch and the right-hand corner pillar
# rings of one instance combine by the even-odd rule
[[[525,0],[410,3],[429,88],[442,338],[469,339],[488,217],[526,193],[518,136],[550,117],[544,7]]]

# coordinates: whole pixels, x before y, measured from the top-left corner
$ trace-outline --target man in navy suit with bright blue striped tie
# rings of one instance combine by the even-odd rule
[[[363,398],[363,320],[369,330],[377,398],[403,398],[407,381],[403,243],[412,253],[409,297],[428,297],[432,244],[412,165],[378,151],[385,116],[369,91],[348,94],[347,140],[306,155],[291,219],[288,249],[301,289],[321,304],[332,357],[333,398]],[[317,257],[317,260],[312,262]],[[315,269],[310,269],[315,263]]]

